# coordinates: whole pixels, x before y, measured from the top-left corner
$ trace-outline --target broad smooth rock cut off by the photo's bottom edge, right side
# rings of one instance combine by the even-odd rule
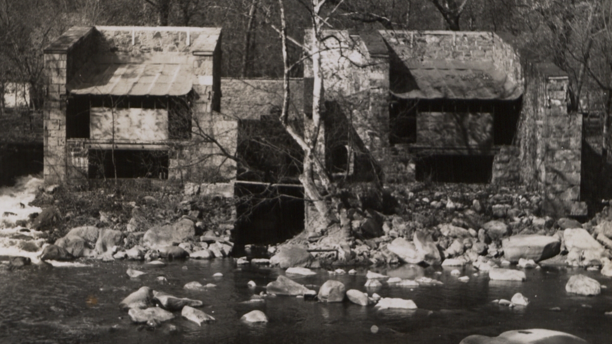
[[[470,335],[459,344],[588,344],[586,340],[559,331],[529,329],[507,331],[497,337]]]

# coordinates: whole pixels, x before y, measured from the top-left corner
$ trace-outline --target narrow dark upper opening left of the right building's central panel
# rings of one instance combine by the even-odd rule
[[[417,141],[418,100],[395,99],[389,104],[389,142],[415,143]]]

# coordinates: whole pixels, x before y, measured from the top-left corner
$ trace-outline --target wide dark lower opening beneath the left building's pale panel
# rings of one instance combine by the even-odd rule
[[[168,151],[89,150],[89,178],[168,179]]]

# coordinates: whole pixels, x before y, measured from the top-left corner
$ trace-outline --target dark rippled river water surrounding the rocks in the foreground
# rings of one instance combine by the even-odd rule
[[[407,289],[384,285],[366,290],[365,271],[358,275],[330,277],[320,271],[310,277],[291,276],[303,284],[321,285],[327,279],[338,279],[347,289],[376,292],[383,297],[412,299],[416,311],[384,310],[345,302],[323,304],[296,297],[269,298],[265,304],[241,304],[253,293],[264,290],[275,280],[279,269],[239,269],[231,260],[175,261],[166,267],[147,269],[140,279],[129,279],[128,267],[143,269],[140,263],[99,263],[89,267],[56,267],[49,271],[22,270],[0,272],[0,343],[459,343],[471,334],[498,335],[512,329],[546,328],[569,332],[589,342],[610,343],[612,288],[600,296],[581,297],[565,293],[571,274],[591,275],[611,285],[610,279],[584,271],[543,268],[528,271],[526,282],[496,282],[487,274],[470,276],[462,283],[450,275],[450,269],[422,269],[401,266],[378,272],[412,278],[419,275],[442,280],[442,286],[419,286]],[[187,267],[187,269],[184,269]],[[215,279],[212,274],[222,272]],[[160,284],[156,277],[165,276]],[[258,288],[250,290],[254,280]],[[184,290],[187,282],[214,283],[206,291]],[[130,323],[119,302],[141,286],[151,286],[175,296],[200,299],[201,308],[214,316],[213,324],[198,326],[177,318],[154,330]],[[529,297],[528,307],[508,308],[490,303],[493,299],[510,299],[514,293]],[[549,310],[561,307],[561,312]],[[262,310],[267,324],[240,321],[250,310]],[[377,334],[370,332],[376,324]],[[171,333],[170,325],[177,328]]]

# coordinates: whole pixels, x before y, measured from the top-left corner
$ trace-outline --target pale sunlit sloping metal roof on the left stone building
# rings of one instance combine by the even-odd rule
[[[185,95],[192,89],[192,77],[185,64],[90,62],[67,89],[71,94]]]

